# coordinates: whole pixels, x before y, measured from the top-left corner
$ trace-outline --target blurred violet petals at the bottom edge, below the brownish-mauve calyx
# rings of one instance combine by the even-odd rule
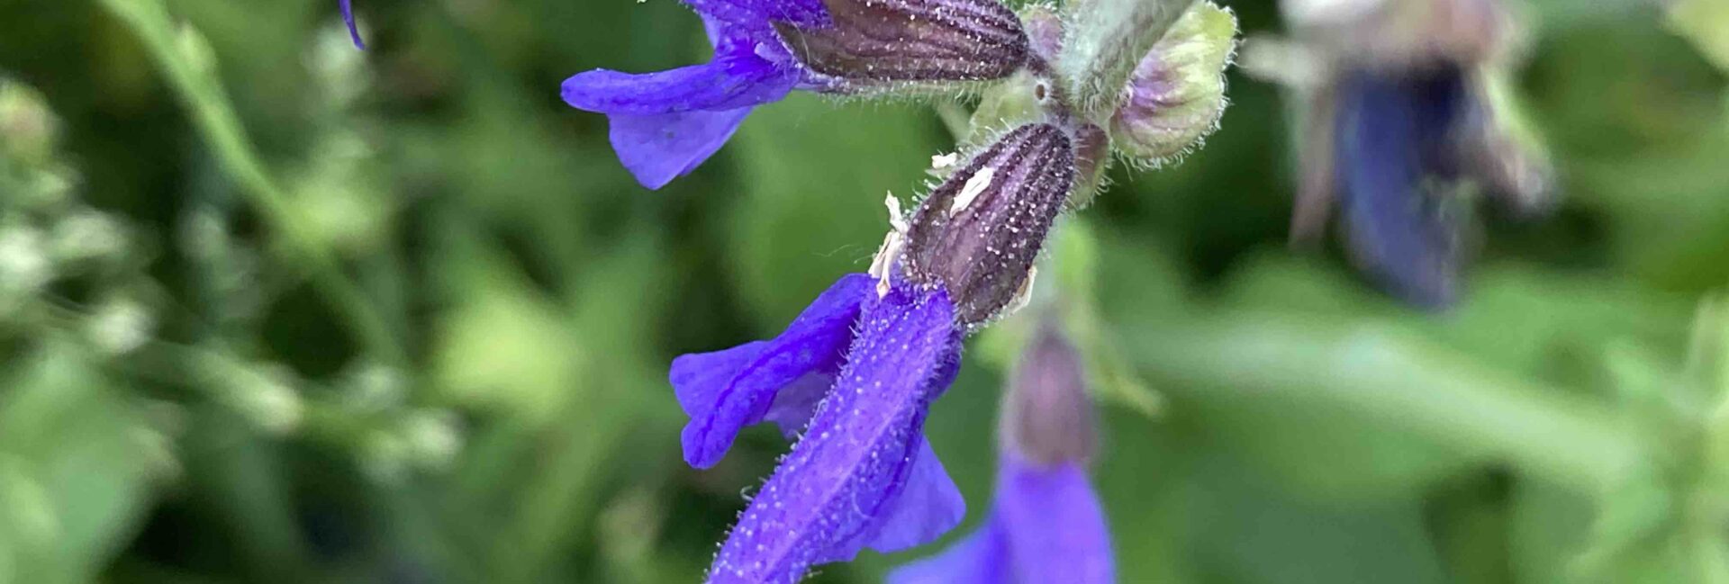
[[[890,584],[1096,584],[1115,565],[1105,513],[1081,463],[1005,454],[991,517],[937,556],[889,574]]]

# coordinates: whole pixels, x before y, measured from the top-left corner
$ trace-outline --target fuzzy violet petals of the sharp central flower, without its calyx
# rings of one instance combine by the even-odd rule
[[[773,420],[792,434],[809,420],[709,581],[797,582],[813,565],[918,546],[960,524],[967,503],[923,423],[954,380],[963,335],[942,287],[894,278],[878,297],[873,278],[849,275],[775,340],[674,361],[692,465],[712,465],[745,425]]]

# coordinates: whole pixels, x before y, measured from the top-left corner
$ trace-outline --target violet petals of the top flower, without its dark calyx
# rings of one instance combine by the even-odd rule
[[[818,0],[690,0],[714,45],[707,64],[648,74],[609,69],[564,81],[572,107],[607,114],[612,149],[643,187],[660,188],[709,159],[750,109],[818,86],[771,22],[826,26]]]

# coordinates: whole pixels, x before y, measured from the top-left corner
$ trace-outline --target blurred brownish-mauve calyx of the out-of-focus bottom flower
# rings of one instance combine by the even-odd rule
[[[1086,366],[1050,314],[1008,378],[998,437],[1006,451],[1041,467],[1086,461],[1098,446]]]

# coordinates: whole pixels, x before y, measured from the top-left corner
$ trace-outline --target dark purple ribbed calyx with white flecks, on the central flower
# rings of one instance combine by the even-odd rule
[[[1060,128],[1015,128],[918,206],[908,276],[947,287],[961,323],[991,320],[1022,294],[1074,180],[1074,145]]]

